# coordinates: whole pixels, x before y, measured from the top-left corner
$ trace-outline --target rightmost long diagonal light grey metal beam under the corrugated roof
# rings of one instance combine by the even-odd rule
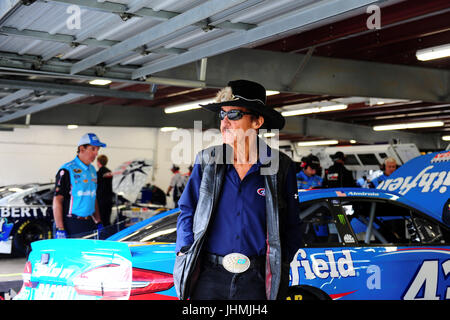
[[[246,32],[237,32],[211,41],[201,48],[192,49],[184,54],[167,59],[158,60],[133,72],[133,79],[153,74],[162,70],[171,69],[189,62],[194,62],[205,57],[211,57],[227,52],[250,43],[254,43],[276,34],[284,33],[320,20],[328,19],[336,15],[368,6],[378,1],[374,0],[333,0],[318,1],[304,10],[288,15],[284,18],[275,19],[271,23],[258,26]],[[77,70],[76,68],[74,71]]]

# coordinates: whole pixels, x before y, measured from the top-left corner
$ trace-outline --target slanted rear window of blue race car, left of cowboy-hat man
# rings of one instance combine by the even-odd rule
[[[158,219],[118,241],[127,242],[175,242],[179,211]]]

